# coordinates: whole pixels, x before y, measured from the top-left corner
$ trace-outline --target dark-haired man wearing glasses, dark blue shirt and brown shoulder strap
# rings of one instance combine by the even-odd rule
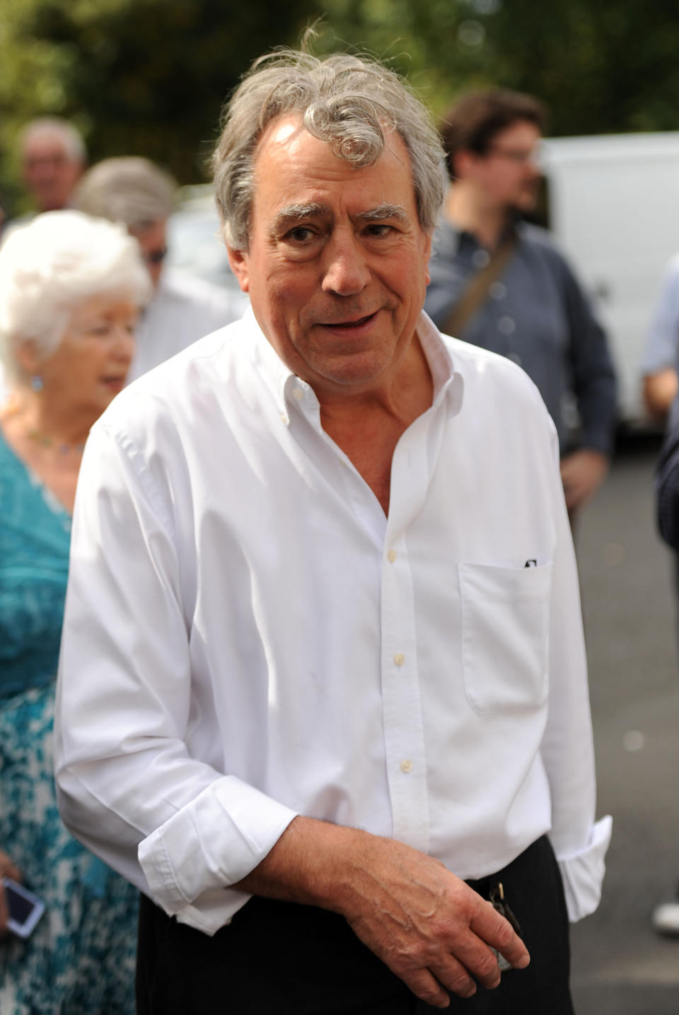
[[[603,480],[616,384],[606,336],[535,208],[545,110],[530,95],[465,95],[442,130],[451,186],[433,242],[424,309],[449,335],[519,363],[559,435],[572,513]]]

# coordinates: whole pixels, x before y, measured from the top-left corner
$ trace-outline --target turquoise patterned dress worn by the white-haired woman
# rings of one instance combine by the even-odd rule
[[[132,1015],[137,890],[73,839],[52,771],[70,518],[0,435],[0,849],[46,911],[0,939],[1,1015]]]

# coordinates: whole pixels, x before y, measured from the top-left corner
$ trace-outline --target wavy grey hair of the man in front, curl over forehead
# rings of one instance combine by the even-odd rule
[[[256,60],[236,88],[212,157],[227,246],[248,249],[257,143],[272,120],[292,112],[356,168],[377,162],[385,133],[395,130],[410,155],[420,225],[434,227],[447,185],[445,155],[427,110],[406,82],[368,57],[278,50]]]

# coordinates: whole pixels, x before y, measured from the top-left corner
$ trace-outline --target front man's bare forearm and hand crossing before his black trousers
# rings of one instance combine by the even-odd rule
[[[503,917],[443,864],[394,839],[295,818],[237,886],[341,912],[360,940],[422,1001],[450,1004],[500,979],[497,949],[530,957]]]

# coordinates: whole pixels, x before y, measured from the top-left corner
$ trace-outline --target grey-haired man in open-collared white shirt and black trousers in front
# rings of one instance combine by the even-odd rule
[[[214,167],[252,312],[93,428],[60,664],[138,1010],[569,1015],[610,819],[557,441],[421,312],[436,133],[381,64],[278,52]]]

